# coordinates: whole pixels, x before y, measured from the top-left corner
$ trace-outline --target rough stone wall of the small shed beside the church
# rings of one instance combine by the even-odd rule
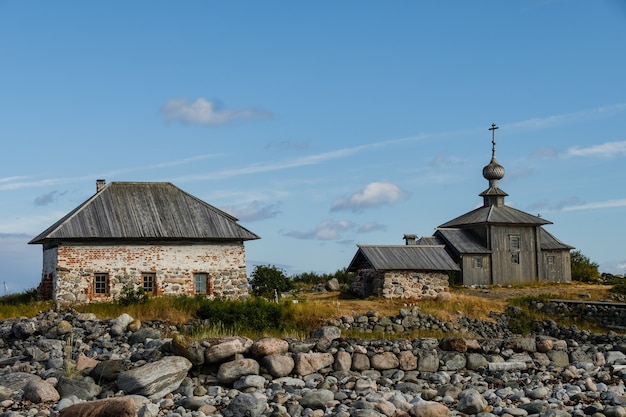
[[[450,290],[448,275],[442,272],[388,271],[362,269],[352,282],[352,291],[361,297],[432,299]]]

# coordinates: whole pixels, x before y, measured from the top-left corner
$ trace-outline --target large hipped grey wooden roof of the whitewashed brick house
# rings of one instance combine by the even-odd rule
[[[237,219],[168,182],[112,182],[29,243],[252,240]]]

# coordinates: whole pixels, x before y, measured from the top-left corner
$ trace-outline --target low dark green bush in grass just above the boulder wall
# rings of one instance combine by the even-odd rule
[[[285,330],[293,326],[287,304],[254,298],[245,301],[206,300],[196,315],[212,326],[236,331]]]

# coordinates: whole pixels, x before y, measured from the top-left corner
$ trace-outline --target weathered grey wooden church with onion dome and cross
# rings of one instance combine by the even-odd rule
[[[482,171],[489,186],[479,194],[483,198],[482,206],[440,225],[433,236],[407,239],[406,245],[445,248],[452,264],[458,266],[449,268],[448,275],[467,286],[570,282],[570,250],[574,247],[544,229],[543,226],[552,222],[509,207],[504,202],[508,194],[498,185],[504,178],[504,167],[496,160],[497,128],[492,124],[489,129],[492,132],[491,161]],[[393,251],[388,246],[386,248],[388,252]],[[348,270],[354,272],[359,281],[359,276],[372,275],[372,270],[376,269],[374,264],[368,263],[359,249]],[[438,263],[442,264],[445,263]],[[421,272],[426,271],[422,269]]]

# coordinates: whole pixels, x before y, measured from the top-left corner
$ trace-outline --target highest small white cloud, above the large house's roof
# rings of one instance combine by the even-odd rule
[[[202,126],[222,125],[235,120],[272,118],[272,114],[265,110],[222,109],[218,103],[202,97],[195,101],[184,98],[170,99],[162,110],[168,121]]]

